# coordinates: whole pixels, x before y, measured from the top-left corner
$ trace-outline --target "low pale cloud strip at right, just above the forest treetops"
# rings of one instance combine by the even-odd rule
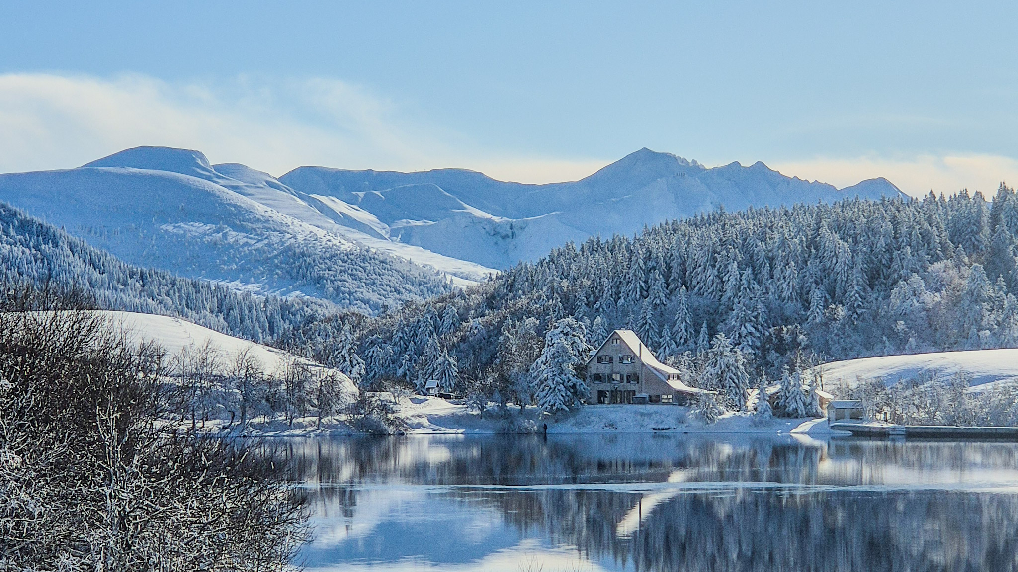
[[[884,177],[903,191],[921,196],[930,190],[952,194],[963,188],[992,196],[1001,182],[1018,183],[1018,161],[999,155],[949,154],[911,158],[812,159],[772,165],[786,175],[818,179],[839,187]]]

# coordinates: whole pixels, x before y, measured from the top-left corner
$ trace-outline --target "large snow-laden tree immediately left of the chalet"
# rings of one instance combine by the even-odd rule
[[[534,397],[542,411],[555,413],[577,405],[587,393],[582,371],[592,348],[586,343],[583,325],[564,318],[545,335],[545,349],[530,367]]]

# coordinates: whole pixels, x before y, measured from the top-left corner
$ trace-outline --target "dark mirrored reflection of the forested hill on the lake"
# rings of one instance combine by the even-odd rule
[[[973,468],[1010,479],[1015,444],[620,437],[317,440],[289,443],[286,454],[296,477],[329,483],[318,500],[347,515],[361,483],[462,485],[433,494],[640,570],[1018,570],[1018,496],[798,487]],[[526,488],[610,482],[675,487]]]

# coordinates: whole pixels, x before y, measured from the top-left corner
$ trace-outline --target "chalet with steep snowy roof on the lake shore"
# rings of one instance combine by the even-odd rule
[[[704,393],[658,361],[632,330],[616,330],[586,362],[587,403],[685,404]]]

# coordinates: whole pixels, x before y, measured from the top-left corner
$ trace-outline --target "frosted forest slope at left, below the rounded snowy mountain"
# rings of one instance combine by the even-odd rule
[[[320,300],[254,296],[132,267],[3,203],[0,284],[76,288],[101,308],[174,316],[258,342],[273,342],[336,309]]]

